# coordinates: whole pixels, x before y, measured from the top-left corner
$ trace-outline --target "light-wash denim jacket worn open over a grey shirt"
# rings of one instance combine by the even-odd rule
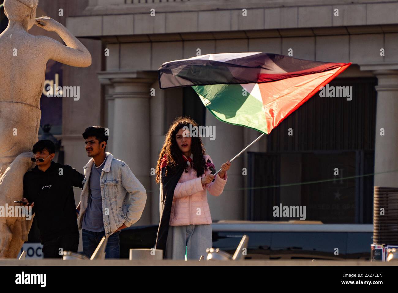
[[[144,210],[146,191],[138,181],[129,166],[111,153],[101,173],[101,197],[103,226],[105,236],[111,236],[120,226],[130,227],[137,222]],[[78,217],[79,229],[82,229],[84,214],[88,207],[89,178],[93,159],[84,167],[83,190],[80,195],[80,213]]]

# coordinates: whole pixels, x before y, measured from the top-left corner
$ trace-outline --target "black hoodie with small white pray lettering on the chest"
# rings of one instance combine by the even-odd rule
[[[51,162],[45,171],[36,166],[23,177],[23,197],[35,203],[41,243],[64,234],[79,233],[73,186],[83,187],[84,175],[68,165]]]

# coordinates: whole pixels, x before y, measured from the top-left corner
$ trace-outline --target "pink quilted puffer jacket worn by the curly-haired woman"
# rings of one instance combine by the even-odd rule
[[[205,155],[205,161],[211,160],[209,155]],[[174,197],[172,210],[170,213],[171,226],[202,225],[211,224],[211,215],[209,204],[207,203],[207,191],[211,195],[218,197],[224,190],[227,181],[225,173],[224,179],[219,175],[209,184],[202,186],[202,177],[210,174],[211,171],[205,171],[202,177],[196,177],[196,171],[193,167],[188,167],[187,173],[184,171],[179,179]]]

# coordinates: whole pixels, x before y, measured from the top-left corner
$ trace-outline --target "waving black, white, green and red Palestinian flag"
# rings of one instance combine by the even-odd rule
[[[160,88],[191,86],[219,120],[269,134],[351,63],[267,53],[207,54],[170,61]]]

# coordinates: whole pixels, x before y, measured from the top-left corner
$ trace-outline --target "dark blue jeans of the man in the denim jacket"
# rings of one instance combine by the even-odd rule
[[[117,231],[109,236],[105,248],[105,258],[119,258],[119,235],[120,231]],[[103,236],[105,236],[105,231],[91,232],[83,229],[83,254],[91,258]]]

